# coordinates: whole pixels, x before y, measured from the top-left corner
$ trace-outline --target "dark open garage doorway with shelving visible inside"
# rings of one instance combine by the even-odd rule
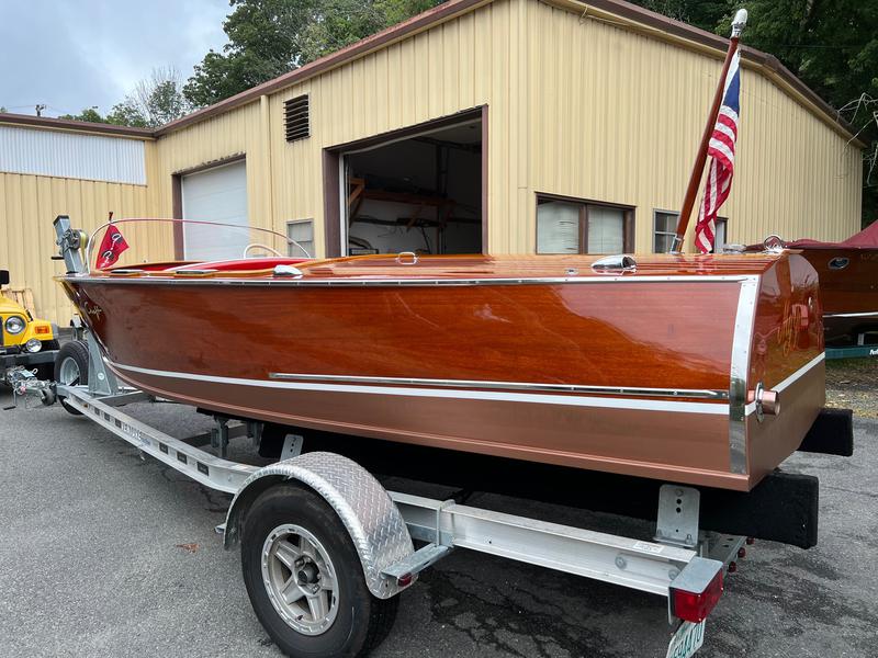
[[[483,111],[345,149],[341,253],[482,253]]]

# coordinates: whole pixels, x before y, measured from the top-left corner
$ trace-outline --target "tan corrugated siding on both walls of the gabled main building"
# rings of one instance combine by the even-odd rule
[[[488,105],[488,249],[532,252],[536,193],[678,207],[721,63],[700,52],[531,0],[497,0],[158,143],[161,214],[175,171],[247,154],[256,226],[315,218],[324,253],[324,149]],[[286,143],[283,102],[311,97],[312,137]],[[798,101],[744,71],[729,239],[848,236],[859,152]],[[151,184],[150,179],[150,188]]]

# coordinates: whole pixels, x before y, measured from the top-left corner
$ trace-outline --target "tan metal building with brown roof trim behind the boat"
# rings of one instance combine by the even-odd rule
[[[58,213],[270,227],[320,257],[664,250],[725,47],[618,0],[451,0],[157,131],[0,115],[0,263],[66,322]],[[742,68],[718,238],[856,232],[862,145],[774,57],[744,48]],[[4,150],[16,131],[24,147]],[[33,134],[140,146],[113,169],[101,143],[59,171],[75,145]],[[143,258],[218,254],[191,237],[128,242]]]

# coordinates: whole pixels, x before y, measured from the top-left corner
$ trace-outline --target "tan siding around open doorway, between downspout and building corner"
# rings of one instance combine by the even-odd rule
[[[491,131],[508,125],[511,3],[495,2],[448,21],[270,99],[275,226],[315,217],[324,251],[323,150],[476,107],[492,99]],[[277,139],[283,102],[308,93],[311,139]],[[492,162],[507,160],[506,140],[489,140]],[[488,170],[488,205],[506,212],[509,170]]]

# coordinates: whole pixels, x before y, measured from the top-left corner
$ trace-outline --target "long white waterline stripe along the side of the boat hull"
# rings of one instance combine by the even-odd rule
[[[724,402],[684,402],[677,400],[641,400],[632,398],[608,398],[595,396],[528,394],[493,390],[460,390],[448,388],[410,388],[405,386],[361,386],[353,384],[316,384],[311,382],[278,382],[270,379],[244,379],[239,377],[217,377],[173,371],[158,371],[133,365],[123,365],[108,360],[114,368],[130,373],[151,375],[170,379],[210,382],[233,386],[256,388],[280,388],[284,390],[315,390],[323,393],[357,393],[367,395],[393,395],[402,397],[429,397],[464,400],[496,400],[504,402],[529,402],[537,405],[561,405],[566,407],[596,407],[604,409],[633,409],[639,411],[674,411],[682,413],[706,413],[729,416],[729,405]]]

